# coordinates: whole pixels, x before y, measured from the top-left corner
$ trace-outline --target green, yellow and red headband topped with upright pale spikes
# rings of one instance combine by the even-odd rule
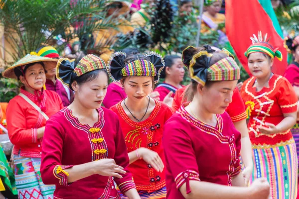
[[[245,56],[248,57],[251,53],[264,53],[269,55],[271,58],[277,57],[279,61],[283,60],[283,54],[278,50],[278,48],[274,49],[268,42],[270,39],[267,40],[267,34],[262,36],[262,32],[258,32],[258,37],[254,34],[254,37],[251,37],[252,45],[247,49],[245,52]]]

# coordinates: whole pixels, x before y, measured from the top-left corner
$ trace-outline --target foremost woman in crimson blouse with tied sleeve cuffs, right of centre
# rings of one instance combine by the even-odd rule
[[[186,48],[183,63],[189,67],[188,89],[194,97],[164,127],[167,198],[267,199],[265,179],[245,188],[239,161],[241,134],[225,113],[240,78],[238,65],[209,46]]]

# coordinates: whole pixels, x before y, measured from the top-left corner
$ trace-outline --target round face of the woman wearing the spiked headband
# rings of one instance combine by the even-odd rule
[[[251,53],[248,57],[248,68],[250,73],[259,79],[266,78],[271,74],[273,59],[269,59],[263,53]]]

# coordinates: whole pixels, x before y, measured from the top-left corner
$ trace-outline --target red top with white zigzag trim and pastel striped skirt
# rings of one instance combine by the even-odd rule
[[[273,75],[269,88],[257,92],[252,77],[243,84],[241,95],[250,117],[249,136],[253,148],[252,181],[265,177],[271,186],[272,199],[295,199],[297,196],[298,159],[290,129],[267,135],[257,127],[265,123],[279,124],[285,113],[297,111],[297,96],[292,85],[282,76]],[[251,181],[251,182],[252,182]]]

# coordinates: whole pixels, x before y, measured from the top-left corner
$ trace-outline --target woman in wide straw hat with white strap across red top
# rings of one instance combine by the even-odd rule
[[[55,59],[26,55],[2,75],[20,80],[20,94],[9,101],[6,121],[13,148],[14,175],[18,198],[52,199],[54,185],[44,185],[40,178],[40,158],[48,117],[63,108],[57,93],[44,90],[48,65]]]

